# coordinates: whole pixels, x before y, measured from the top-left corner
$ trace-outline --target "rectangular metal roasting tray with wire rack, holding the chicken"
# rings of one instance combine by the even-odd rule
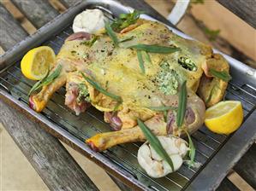
[[[215,189],[229,170],[246,153],[256,139],[256,72],[253,68],[224,55],[231,66],[232,80],[225,100],[242,102],[244,122],[241,128],[230,136],[217,135],[207,130],[205,126],[193,133],[196,147],[196,161],[202,164],[199,168],[188,168],[182,165],[166,177],[154,179],[148,177],[137,162],[137,150],[140,143],[129,143],[110,148],[103,153],[95,153],[85,143],[85,139],[98,132],[110,131],[109,125],[103,121],[103,113],[90,108],[86,113],[76,116],[64,106],[65,89],[62,88],[52,96],[42,113],[35,113],[28,107],[27,93],[34,84],[21,74],[20,61],[29,50],[39,45],[48,45],[57,53],[64,39],[72,31],[74,16],[84,9],[99,8],[105,13],[115,16],[132,10],[120,3],[110,0],[88,0],[77,3],[64,14],[57,16],[47,25],[39,29],[31,37],[9,49],[0,61],[0,97],[22,113],[26,113],[52,135],[68,143],[74,149],[92,159],[114,177],[117,177],[129,187],[144,190],[206,190]],[[142,17],[153,20],[143,14]],[[169,26],[170,27],[170,26]],[[171,28],[173,32],[184,38],[189,38],[182,32]],[[217,51],[217,50],[216,50]]]

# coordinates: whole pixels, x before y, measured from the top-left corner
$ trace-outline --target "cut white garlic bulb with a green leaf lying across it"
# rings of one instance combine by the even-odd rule
[[[174,170],[177,171],[182,166],[182,158],[189,150],[188,143],[176,136],[158,136],[158,139],[170,156]],[[170,165],[158,155],[148,142],[139,148],[138,161],[150,177],[164,177],[173,172]]]

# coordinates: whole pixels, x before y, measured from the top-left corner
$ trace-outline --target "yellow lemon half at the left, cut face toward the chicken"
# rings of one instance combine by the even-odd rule
[[[40,80],[45,77],[55,58],[51,47],[40,46],[31,49],[21,60],[21,72],[29,79]]]

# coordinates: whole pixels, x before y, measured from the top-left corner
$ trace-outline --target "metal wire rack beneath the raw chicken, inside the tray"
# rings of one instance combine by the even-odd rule
[[[71,33],[73,33],[71,26],[67,26],[62,32],[52,36],[42,45],[50,46],[57,54],[64,43],[64,39]],[[16,61],[12,65],[3,68],[0,72],[0,88],[25,106],[27,106],[28,102],[27,94],[33,84],[33,81],[23,77],[20,61]],[[64,95],[65,88],[63,87],[52,96],[47,107],[41,113],[42,117],[57,124],[82,142],[99,132],[110,131],[110,126],[104,123],[103,113],[91,107],[86,113],[76,116],[64,105]],[[245,115],[244,120],[246,120],[250,113],[253,113],[253,110],[255,110],[255,95],[256,89],[253,86],[240,84],[239,80],[234,78],[229,83],[224,99],[241,101]],[[207,130],[205,126],[201,127],[192,135],[196,148],[195,160],[201,164],[199,168],[189,168],[188,165],[182,165],[179,171],[158,179],[148,177],[146,172],[140,168],[136,158],[138,148],[140,147],[138,142],[122,144],[98,154],[103,155],[113,165],[119,166],[122,171],[126,171],[134,179],[142,182],[146,188],[152,190],[184,190],[229,138],[230,136],[214,134]]]

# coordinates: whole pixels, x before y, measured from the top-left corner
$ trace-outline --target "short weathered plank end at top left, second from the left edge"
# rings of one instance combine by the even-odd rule
[[[59,13],[45,0],[11,0],[37,28],[53,20]]]

